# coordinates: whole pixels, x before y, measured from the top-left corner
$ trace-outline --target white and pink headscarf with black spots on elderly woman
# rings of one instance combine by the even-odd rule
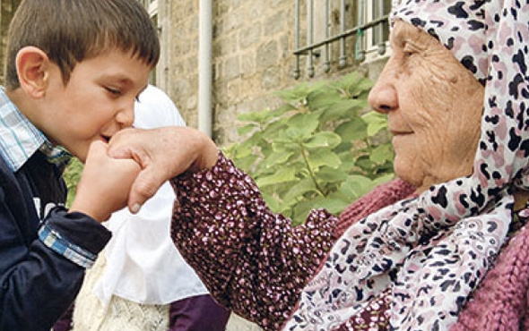
[[[392,328],[447,329],[506,242],[513,192],[529,191],[528,1],[403,0],[391,20],[438,38],[485,86],[473,174],[352,225],[285,329],[333,329],[387,290]]]

